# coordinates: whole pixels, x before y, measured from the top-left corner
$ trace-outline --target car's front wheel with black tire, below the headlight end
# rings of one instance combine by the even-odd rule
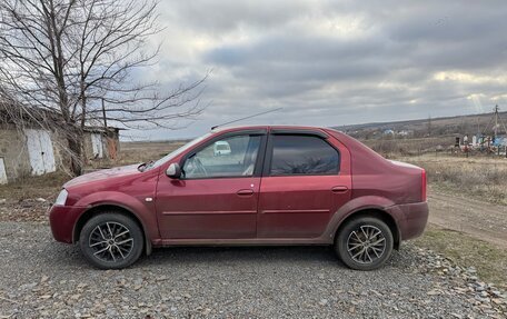
[[[143,243],[139,225],[118,212],[92,217],[79,236],[79,247],[84,259],[99,269],[129,267],[141,256]]]

